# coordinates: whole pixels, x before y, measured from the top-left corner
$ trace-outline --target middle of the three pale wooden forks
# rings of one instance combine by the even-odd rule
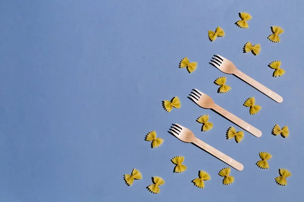
[[[230,120],[231,122],[235,123],[236,125],[240,126],[244,130],[250,132],[256,137],[260,137],[262,135],[262,132],[258,130],[257,128],[253,127],[249,123],[246,123],[242,119],[238,118],[237,116],[231,114],[230,112],[226,111],[225,109],[219,107],[216,105],[213,101],[213,99],[201,92],[198,89],[193,89],[191,94],[189,94],[192,98],[193,102],[195,102],[198,106],[205,108],[205,109],[212,109],[215,112],[219,113],[226,119]]]

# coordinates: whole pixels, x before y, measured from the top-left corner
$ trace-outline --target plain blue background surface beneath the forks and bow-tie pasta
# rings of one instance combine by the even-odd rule
[[[303,184],[303,1],[2,1],[0,8],[0,200],[1,201],[302,201]],[[235,25],[248,12],[249,29]],[[285,32],[268,40],[270,27]],[[225,36],[210,42],[208,30]],[[260,43],[258,56],[243,45]],[[232,75],[209,65],[213,54],[234,62],[245,74],[282,95],[278,104]],[[183,57],[198,62],[189,74]],[[268,67],[282,61],[282,77]],[[227,77],[232,87],[217,93],[213,81]],[[225,139],[241,128],[187,95],[198,88],[215,102],[257,127],[241,143]],[[162,100],[178,96],[181,109],[167,113]],[[243,106],[254,96],[262,110]],[[209,114],[214,128],[201,132],[197,117]],[[232,169],[235,182],[222,185],[227,167],[167,131],[172,123],[243,163]],[[288,125],[290,136],[271,134]],[[164,143],[144,141],[156,130]],[[255,163],[258,153],[273,155],[270,169]],[[184,156],[188,169],[173,173],[170,159]],[[143,175],[126,186],[123,175]],[[292,176],[278,186],[278,169]],[[205,170],[211,180],[199,189],[191,182]],[[146,190],[151,177],[166,183],[160,194]]]

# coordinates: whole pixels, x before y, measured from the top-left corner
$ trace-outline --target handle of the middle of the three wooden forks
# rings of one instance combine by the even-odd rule
[[[250,125],[249,123],[243,121],[242,119],[240,119],[239,117],[233,115],[232,113],[228,112],[227,110],[221,108],[218,105],[214,105],[212,108],[214,111],[216,111],[217,113],[221,114],[223,117],[225,117],[226,119],[230,120],[231,122],[235,123],[236,125],[240,126],[241,128],[243,128],[244,130],[250,132],[251,134],[253,134],[256,137],[260,137],[262,135],[262,132],[253,127],[252,125]]]

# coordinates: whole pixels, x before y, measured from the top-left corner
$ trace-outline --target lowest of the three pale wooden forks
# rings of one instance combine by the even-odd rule
[[[197,145],[198,147],[204,149],[209,154],[213,155],[214,157],[218,158],[219,160],[225,162],[226,164],[230,165],[231,167],[241,171],[244,169],[243,164],[237,162],[236,160],[232,159],[231,157],[221,153],[216,148],[210,146],[209,144],[203,142],[199,138],[197,138],[193,132],[179,124],[172,124],[171,128],[169,129],[171,131],[171,134],[173,134],[175,137],[180,139],[183,142],[187,143],[193,143]]]

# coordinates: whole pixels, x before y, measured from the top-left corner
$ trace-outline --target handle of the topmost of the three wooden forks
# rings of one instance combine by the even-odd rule
[[[280,96],[279,94],[275,93],[271,89],[263,86],[262,84],[260,84],[259,82],[257,82],[253,78],[247,76],[246,74],[244,74],[240,70],[237,70],[234,73],[234,75],[237,76],[237,77],[239,77],[240,79],[242,79],[243,81],[245,81],[246,83],[248,83],[249,85],[251,85],[252,87],[256,88],[257,90],[261,91],[265,95],[269,96],[270,98],[272,98],[273,100],[275,100],[277,103],[282,103],[283,102],[283,97],[282,96]]]

